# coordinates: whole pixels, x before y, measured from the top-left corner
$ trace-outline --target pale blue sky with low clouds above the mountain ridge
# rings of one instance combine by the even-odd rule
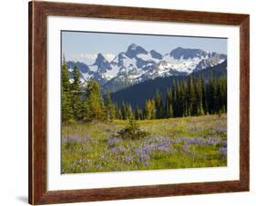
[[[93,64],[98,53],[110,61],[116,54],[125,52],[129,44],[138,44],[147,51],[154,49],[160,54],[167,54],[178,46],[227,54],[227,39],[221,38],[62,32],[62,54],[67,61]]]

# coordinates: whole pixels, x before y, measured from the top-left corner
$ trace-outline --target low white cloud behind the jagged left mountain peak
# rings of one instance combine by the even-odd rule
[[[104,57],[111,62],[115,58],[115,54],[103,54]],[[97,59],[97,54],[71,54],[67,56],[68,61],[83,62],[85,64],[94,64]]]

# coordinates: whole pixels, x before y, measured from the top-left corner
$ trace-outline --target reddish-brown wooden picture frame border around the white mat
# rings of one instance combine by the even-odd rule
[[[46,191],[46,16],[87,16],[240,26],[240,181],[213,181],[72,191]],[[168,9],[29,3],[29,203],[107,201],[249,191],[250,15]]]

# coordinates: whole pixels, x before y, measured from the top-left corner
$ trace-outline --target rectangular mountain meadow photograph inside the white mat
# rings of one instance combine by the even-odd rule
[[[61,173],[227,166],[227,39],[61,35]]]

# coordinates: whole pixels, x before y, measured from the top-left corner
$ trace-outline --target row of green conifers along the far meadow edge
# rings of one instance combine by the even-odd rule
[[[70,82],[67,64],[64,60],[62,76],[62,122],[68,121],[112,121],[152,120],[182,116],[200,116],[227,113],[227,78],[216,78],[213,74],[205,83],[203,75],[197,78],[189,75],[189,81],[174,80],[167,94],[159,90],[155,96],[145,101],[144,108],[132,108],[130,103],[114,103],[110,90],[103,98],[100,85],[95,80],[87,81],[83,90],[77,66],[72,71]]]

